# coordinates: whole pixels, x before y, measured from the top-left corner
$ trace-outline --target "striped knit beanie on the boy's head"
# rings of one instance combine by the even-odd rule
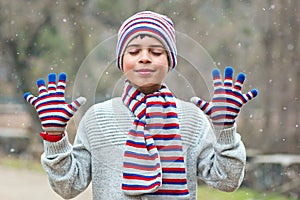
[[[116,65],[123,70],[123,54],[128,43],[140,34],[158,39],[166,48],[169,70],[177,64],[175,29],[171,19],[151,11],[142,11],[128,18],[120,27],[117,43]]]

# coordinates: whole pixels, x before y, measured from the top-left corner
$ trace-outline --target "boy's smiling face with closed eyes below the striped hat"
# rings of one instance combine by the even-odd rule
[[[123,56],[126,78],[141,92],[149,94],[160,89],[168,73],[168,57],[162,43],[154,37],[134,38]]]

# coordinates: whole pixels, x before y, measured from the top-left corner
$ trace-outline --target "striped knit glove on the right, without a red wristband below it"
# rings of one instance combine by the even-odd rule
[[[191,98],[191,101],[211,118],[216,129],[232,127],[242,106],[258,94],[256,89],[247,94],[242,93],[245,74],[238,74],[234,85],[232,82],[233,68],[226,67],[224,75],[223,84],[220,70],[214,69],[212,71],[214,94],[211,102],[206,102],[198,97]]]

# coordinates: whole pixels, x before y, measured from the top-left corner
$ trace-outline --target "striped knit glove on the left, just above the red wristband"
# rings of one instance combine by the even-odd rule
[[[70,104],[66,103],[66,78],[67,75],[61,73],[56,84],[56,74],[50,73],[48,75],[48,88],[46,88],[43,79],[37,81],[39,89],[37,97],[33,96],[30,92],[24,94],[25,100],[36,109],[42,128],[46,132],[65,131],[70,118],[86,101],[84,97],[79,97]]]

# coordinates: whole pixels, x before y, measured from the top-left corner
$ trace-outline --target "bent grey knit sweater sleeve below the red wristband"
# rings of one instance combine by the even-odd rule
[[[41,163],[53,190],[69,199],[84,191],[91,181],[91,155],[81,120],[74,145],[65,136],[58,142],[44,141]]]

